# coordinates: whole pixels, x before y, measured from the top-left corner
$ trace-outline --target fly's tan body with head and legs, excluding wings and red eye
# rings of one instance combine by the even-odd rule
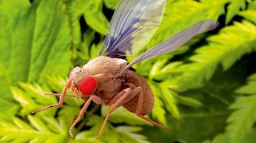
[[[83,95],[79,89],[80,82],[85,75],[90,75],[97,81],[97,88],[88,96]],[[81,87],[84,87],[84,85]],[[124,106],[130,112],[136,113],[138,117],[147,120],[151,124],[155,124],[165,130],[168,129],[161,124],[155,123],[155,121],[148,117],[144,117],[144,115],[150,113],[153,108],[154,96],[146,80],[140,75],[137,75],[137,73],[127,69],[126,60],[100,56],[87,62],[83,68],[73,68],[69,74],[69,81],[63,89],[62,94],[60,94],[59,103],[46,106],[34,111],[34,113],[62,105],[67,89],[72,89],[74,96],[85,102],[79,117],[76,118],[69,128],[69,134],[71,136],[73,136],[73,127],[84,117],[84,113],[91,101],[97,104],[105,103],[107,106],[112,106],[105,117],[98,137],[104,130],[108,117],[118,106]]]

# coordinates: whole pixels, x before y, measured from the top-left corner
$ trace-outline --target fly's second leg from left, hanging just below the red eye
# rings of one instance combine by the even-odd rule
[[[84,113],[87,111],[88,106],[90,105],[91,101],[94,101],[94,103],[101,104],[101,98],[98,96],[90,96],[90,98],[87,100],[87,102],[84,104],[82,110],[79,113],[79,116],[76,118],[76,120],[73,122],[72,126],[69,128],[69,134],[71,137],[73,137],[73,128],[76,126],[76,124],[84,117]]]

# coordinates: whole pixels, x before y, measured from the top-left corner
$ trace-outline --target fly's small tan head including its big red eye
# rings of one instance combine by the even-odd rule
[[[84,96],[91,96],[98,86],[94,76],[87,74],[82,68],[76,67],[69,72],[69,80],[76,84],[76,87]]]

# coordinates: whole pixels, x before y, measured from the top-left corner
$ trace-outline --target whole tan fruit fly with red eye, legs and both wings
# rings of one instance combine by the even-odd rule
[[[162,22],[165,4],[166,0],[122,0],[112,16],[99,57],[88,61],[82,68],[73,68],[69,73],[66,87],[59,94],[59,103],[35,110],[33,113],[61,106],[67,89],[71,89],[74,96],[85,102],[79,117],[69,129],[71,136],[73,136],[73,127],[84,116],[91,102],[112,106],[97,138],[104,130],[108,117],[118,106],[123,106],[130,112],[136,113],[138,117],[167,130],[167,127],[145,117],[153,108],[154,96],[145,79],[129,68],[148,58],[175,51],[197,34],[214,30],[219,23],[207,19],[188,26],[128,64],[120,57],[132,55],[148,44]]]

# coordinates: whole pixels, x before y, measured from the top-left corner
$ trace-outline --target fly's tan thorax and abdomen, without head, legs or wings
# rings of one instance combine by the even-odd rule
[[[123,89],[141,87],[143,95],[143,106],[141,114],[145,115],[151,112],[154,105],[154,96],[148,83],[137,73],[130,70],[124,72],[127,62],[120,58],[98,57],[89,61],[82,70],[88,75],[93,75],[98,81],[98,88],[95,91],[96,96],[100,96],[103,103],[110,106],[115,101],[116,96]],[[119,75],[121,72],[123,74]],[[119,75],[119,76],[116,76]],[[78,85],[79,82],[76,82]],[[137,93],[139,94],[139,93]],[[123,106],[130,112],[136,113],[138,96],[133,95]],[[127,98],[129,99],[129,97]]]

